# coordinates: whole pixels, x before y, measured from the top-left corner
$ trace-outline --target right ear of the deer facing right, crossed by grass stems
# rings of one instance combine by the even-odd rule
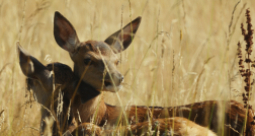
[[[140,22],[141,17],[137,17],[124,28],[109,36],[104,42],[109,44],[115,53],[125,50],[134,39]]]

